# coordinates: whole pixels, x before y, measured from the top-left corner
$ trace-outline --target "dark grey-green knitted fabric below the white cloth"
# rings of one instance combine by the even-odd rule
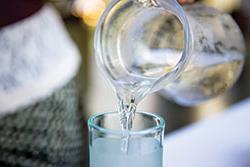
[[[82,124],[71,81],[47,99],[0,118],[0,167],[86,166]]]

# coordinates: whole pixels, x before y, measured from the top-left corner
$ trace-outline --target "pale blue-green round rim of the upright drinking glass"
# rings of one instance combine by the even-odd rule
[[[96,130],[98,130],[99,132],[101,133],[106,133],[106,134],[111,134],[111,135],[117,135],[117,136],[123,136],[124,135],[124,131],[122,130],[112,130],[112,129],[107,129],[107,128],[103,128],[103,127],[100,127],[98,125],[96,125],[94,123],[94,121],[98,118],[98,117],[101,117],[101,116],[104,116],[104,115],[111,115],[111,114],[117,114],[119,115],[119,113],[116,111],[111,111],[111,112],[101,112],[101,113],[97,113],[97,114],[94,114],[92,115],[89,119],[88,119],[88,127],[90,128],[94,128]],[[146,134],[149,134],[149,133],[152,133],[154,131],[158,131],[158,130],[164,130],[165,128],[165,120],[157,115],[157,114],[152,114],[152,113],[148,113],[148,112],[136,112],[135,114],[141,114],[141,115],[146,115],[146,116],[150,116],[150,117],[153,117],[155,119],[157,119],[159,121],[159,125],[155,125],[155,126],[152,126],[150,128],[146,128],[146,129],[143,129],[143,130],[138,130],[138,131],[125,131],[125,133],[129,134],[130,136],[136,136],[136,135],[146,135]]]

